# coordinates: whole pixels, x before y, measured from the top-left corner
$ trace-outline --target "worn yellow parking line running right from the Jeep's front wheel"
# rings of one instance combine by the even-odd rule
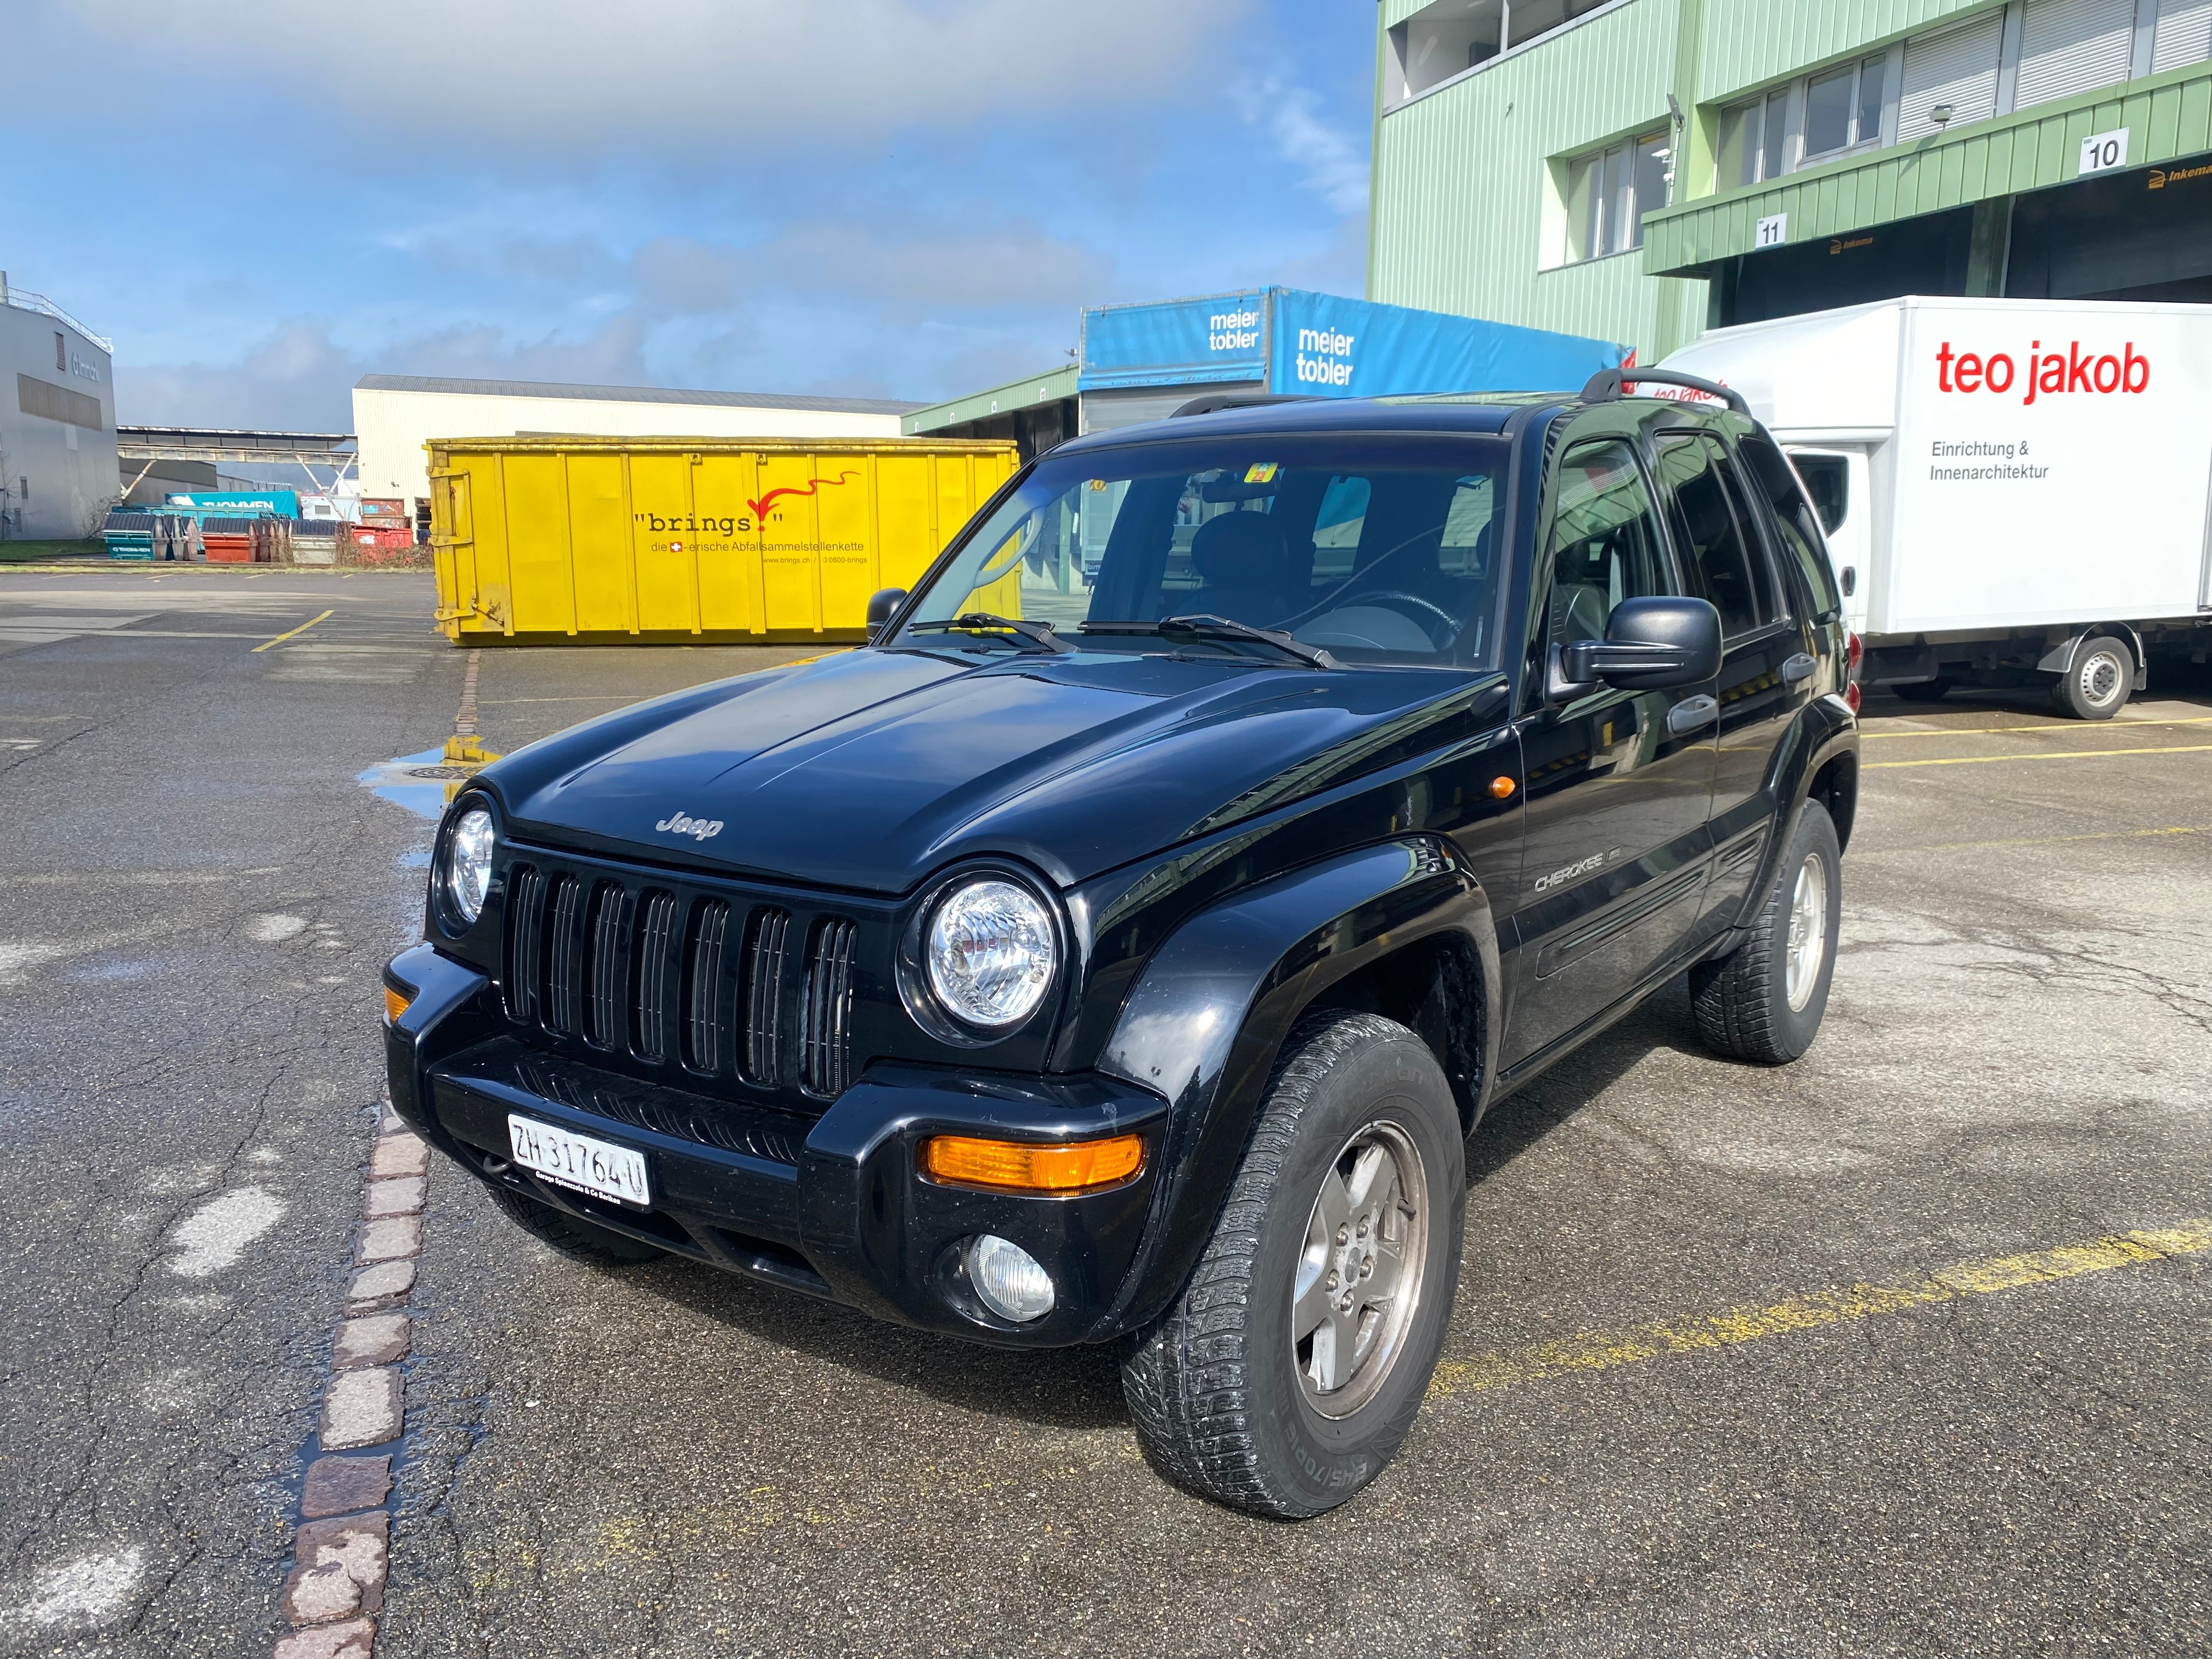
[[[1960,1296],[1993,1296],[2022,1285],[2053,1285],[2081,1274],[2117,1267],[2148,1267],[2172,1256],[2194,1256],[2212,1250],[2212,1221],[2181,1221],[2172,1228],[2124,1232],[2057,1250],[2031,1250],[2020,1256],[1962,1261],[1929,1274],[1913,1285],[1851,1285],[1792,1296],[1767,1307],[1730,1307],[1721,1314],[1681,1325],[1644,1325],[1617,1334],[1577,1334],[1555,1343],[1484,1354],[1475,1360],[1444,1360],[1436,1367],[1429,1396],[1480,1394],[1513,1383],[1540,1383],[1571,1371],[1608,1371],[1615,1365],[1659,1358],[1661,1354],[1694,1354],[1712,1347],[1736,1347],[1765,1336],[1792,1336],[1847,1325],[1876,1314],[1898,1314],[1907,1307],[1949,1303]]]

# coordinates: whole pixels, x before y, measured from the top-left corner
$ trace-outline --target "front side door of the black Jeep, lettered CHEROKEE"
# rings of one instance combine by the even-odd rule
[[[1650,478],[1626,438],[1559,460],[1522,726],[1526,860],[1506,1064],[1610,1009],[1688,938],[1705,883],[1712,684],[1548,686],[1557,648],[1604,639],[1613,606],[1679,593]]]

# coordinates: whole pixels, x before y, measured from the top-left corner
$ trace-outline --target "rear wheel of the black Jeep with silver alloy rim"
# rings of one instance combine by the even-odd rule
[[[1750,938],[1721,960],[1690,969],[1697,1031],[1719,1053],[1781,1066],[1820,1035],[1843,918],[1840,863],[1827,807],[1807,801],[1783,843],[1774,889]]]

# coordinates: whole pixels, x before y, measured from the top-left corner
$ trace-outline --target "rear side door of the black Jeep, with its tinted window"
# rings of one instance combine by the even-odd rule
[[[1774,568],[1761,515],[1725,436],[1712,427],[1661,431],[1659,476],[1692,593],[1721,613],[1721,737],[1712,770],[1712,885],[1705,918],[1719,927],[1745,896],[1770,830],[1765,794],[1774,750],[1812,701],[1820,659],[1809,619]]]

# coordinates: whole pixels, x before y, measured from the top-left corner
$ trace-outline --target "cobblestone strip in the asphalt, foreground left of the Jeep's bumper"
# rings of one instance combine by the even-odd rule
[[[429,1148],[385,1106],[283,1582],[281,1610],[292,1630],[276,1639],[274,1659],[369,1659],[376,1650],[427,1168]]]

